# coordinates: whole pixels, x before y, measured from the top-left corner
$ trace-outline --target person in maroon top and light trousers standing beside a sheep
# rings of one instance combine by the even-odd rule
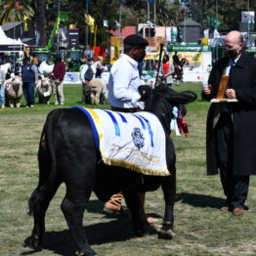
[[[64,74],[65,64],[61,54],[57,54],[55,57],[54,70],[52,77],[54,79],[53,93],[55,96],[55,105],[64,105]]]

